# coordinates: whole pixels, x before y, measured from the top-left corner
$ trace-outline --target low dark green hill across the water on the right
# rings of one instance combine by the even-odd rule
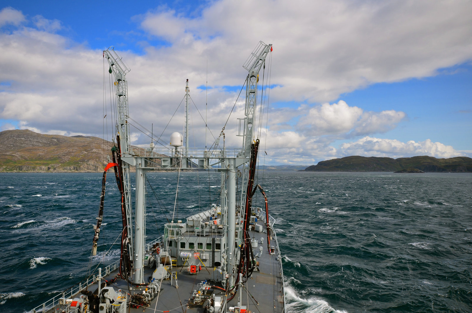
[[[472,172],[472,158],[451,157],[437,159],[429,156],[360,157],[350,156],[321,161],[305,168],[306,172],[396,172],[416,168],[423,172]]]

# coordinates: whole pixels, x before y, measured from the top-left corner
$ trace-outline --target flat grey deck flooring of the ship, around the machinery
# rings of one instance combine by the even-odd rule
[[[258,224],[265,226],[262,221],[259,221]],[[273,225],[273,222],[271,224]],[[265,230],[263,233],[255,232],[253,230],[249,233],[251,238],[256,239],[265,236],[265,241],[262,244],[258,243],[257,247],[253,247],[254,255],[256,255],[256,261],[259,262],[259,266],[253,271],[252,276],[248,278],[246,283],[243,285],[242,301],[240,305],[246,306],[248,310],[247,312],[284,313],[285,295],[283,286],[283,270],[281,255],[278,249],[277,235],[275,233],[272,234],[270,245],[274,247],[274,251],[273,254],[271,254],[267,248],[267,233]],[[260,252],[259,249],[261,246],[262,252]],[[156,268],[146,266],[144,269],[144,278],[148,280]],[[170,272],[169,278],[162,279],[160,283],[160,291],[157,293],[157,296],[154,296],[149,306],[141,306],[138,308],[130,306],[126,308],[126,312],[203,313],[205,309],[202,307],[202,304],[192,305],[192,293],[197,289],[197,285],[202,281],[210,281],[211,279],[214,279],[217,270],[214,268],[202,267],[202,269],[197,273],[191,274],[187,271],[187,266],[173,266],[168,271]],[[111,281],[113,278],[118,276],[118,270],[111,270],[110,272],[105,271],[102,274],[104,274],[104,280]],[[175,279],[176,276],[177,284]],[[244,279],[245,278],[243,278],[243,280]],[[218,283],[211,285],[224,288]],[[126,282],[126,280],[120,278],[116,279],[116,281],[108,287],[114,287],[115,290],[121,289],[126,291],[128,294],[142,293],[142,290],[145,288],[131,286]],[[90,284],[87,289],[89,291],[95,291],[97,289],[97,284]],[[205,296],[209,296],[212,293],[214,293],[215,296],[221,296],[222,303],[226,303],[225,310],[221,310],[220,312],[228,312],[229,307],[238,306],[239,291],[237,291],[237,295],[228,303],[226,300],[230,298],[232,294],[225,295],[223,290],[211,288],[207,291]],[[68,301],[70,303],[71,299],[80,295],[80,293],[71,292],[69,295],[71,295]],[[53,301],[54,305],[47,307],[45,312],[74,312],[70,310],[67,304],[59,305],[54,302],[55,301]],[[34,312],[44,311],[42,311],[41,306],[39,306]],[[90,311],[87,310],[87,312]]]

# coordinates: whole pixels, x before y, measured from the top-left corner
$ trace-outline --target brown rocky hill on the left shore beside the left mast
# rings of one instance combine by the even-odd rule
[[[112,147],[98,137],[0,132],[0,172],[101,172]]]

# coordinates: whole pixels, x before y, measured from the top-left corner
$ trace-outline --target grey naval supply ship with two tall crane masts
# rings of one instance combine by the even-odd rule
[[[184,135],[174,132],[170,144],[155,140],[161,143],[158,147],[152,140],[149,148],[137,148],[131,145],[128,123],[126,74],[130,69],[113,47],[103,51],[114,78],[117,114],[115,145],[102,176],[91,254],[99,249],[106,177],[113,169],[121,197],[120,258],[92,271],[83,281],[31,312],[286,312],[275,220],[269,214],[263,186],[257,183],[256,166],[260,144],[256,130],[262,127],[256,118],[258,95],[262,95],[258,90],[259,72],[265,70],[271,52],[272,44],[259,42],[243,65],[248,71],[245,112],[238,118],[236,134],[242,137],[242,147],[225,146],[226,124],[210,148],[189,147],[187,79]],[[162,226],[163,235],[147,241],[146,174],[209,170],[220,173],[219,202],[185,220],[172,217]],[[261,207],[253,205],[256,192],[262,195]]]

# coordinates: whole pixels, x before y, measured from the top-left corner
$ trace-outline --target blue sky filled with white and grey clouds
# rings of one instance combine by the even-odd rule
[[[239,147],[243,64],[263,41],[265,164],[472,157],[470,12],[470,0],[3,0],[0,130],[111,139],[102,51],[114,46],[134,121],[165,141],[182,133],[188,78],[190,146],[211,146],[234,106],[225,144]]]

